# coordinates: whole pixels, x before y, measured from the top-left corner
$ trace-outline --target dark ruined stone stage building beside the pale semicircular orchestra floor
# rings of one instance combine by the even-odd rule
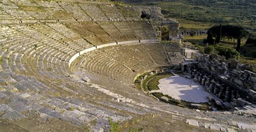
[[[195,56],[194,62],[182,64],[187,76],[224,102],[235,102],[235,99],[241,98],[255,103],[256,74],[246,70],[246,67],[248,65],[227,61],[219,55]]]

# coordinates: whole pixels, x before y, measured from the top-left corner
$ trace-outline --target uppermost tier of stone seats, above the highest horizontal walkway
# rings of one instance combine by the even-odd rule
[[[3,20],[13,19],[66,19],[76,21],[91,20],[139,20],[136,13],[129,12],[131,7],[120,11],[117,6],[105,4],[78,4],[67,2],[10,2],[4,1],[1,4],[1,17]],[[134,10],[132,10],[134,11]],[[7,22],[8,21],[2,21]]]

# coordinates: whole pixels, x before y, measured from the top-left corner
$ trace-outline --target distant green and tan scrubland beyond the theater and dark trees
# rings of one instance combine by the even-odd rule
[[[145,2],[142,4],[160,6],[164,17],[177,19],[181,28],[207,29],[222,23],[242,25],[256,32],[255,2],[183,1]]]

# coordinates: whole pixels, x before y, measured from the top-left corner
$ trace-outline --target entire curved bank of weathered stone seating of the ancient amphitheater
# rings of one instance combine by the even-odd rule
[[[109,131],[109,118],[121,131],[253,131],[255,116],[170,105],[134,87],[139,75],[183,61],[179,42],[158,41],[152,21],[161,19],[142,10],[0,1],[0,131]],[[178,22],[166,23],[177,38]]]

